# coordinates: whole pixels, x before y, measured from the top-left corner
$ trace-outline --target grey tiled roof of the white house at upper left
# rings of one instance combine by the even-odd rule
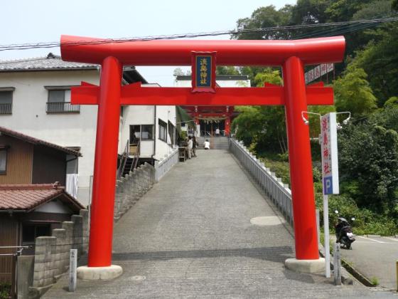
[[[60,56],[49,53],[38,58],[23,58],[14,61],[0,61],[0,72],[21,70],[58,70],[58,69],[96,69],[98,65],[63,61]]]

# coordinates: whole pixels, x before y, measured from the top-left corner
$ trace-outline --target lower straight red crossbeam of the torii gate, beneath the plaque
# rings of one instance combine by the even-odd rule
[[[72,87],[73,105],[97,105],[98,87]],[[308,105],[333,105],[333,88],[306,88]],[[281,86],[265,88],[217,88],[216,93],[191,93],[190,88],[141,88],[140,83],[122,87],[122,105],[237,106],[285,105]]]

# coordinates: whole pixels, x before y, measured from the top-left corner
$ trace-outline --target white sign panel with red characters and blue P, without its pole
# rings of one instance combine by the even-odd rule
[[[337,120],[335,112],[321,117],[323,194],[338,194]]]

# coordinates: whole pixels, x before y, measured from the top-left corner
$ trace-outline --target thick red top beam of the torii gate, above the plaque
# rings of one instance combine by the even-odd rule
[[[64,61],[102,64],[113,56],[122,65],[191,65],[191,51],[217,52],[217,65],[282,65],[289,57],[304,65],[343,60],[343,36],[295,41],[112,41],[61,36]]]

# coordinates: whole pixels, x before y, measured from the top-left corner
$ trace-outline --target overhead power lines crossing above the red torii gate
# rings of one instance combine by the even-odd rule
[[[97,39],[95,41],[77,41],[71,43],[63,43],[65,46],[80,46],[80,45],[90,45],[90,44],[104,44],[104,43],[126,43],[129,41],[155,41],[155,40],[171,40],[176,38],[195,38],[200,36],[221,36],[221,35],[239,35],[244,33],[260,33],[268,31],[290,31],[303,28],[324,28],[332,26],[350,26],[352,24],[372,24],[377,26],[380,23],[388,23],[398,21],[398,16],[393,16],[389,18],[381,19],[367,19],[359,21],[343,21],[343,22],[332,22],[332,23],[313,23],[306,25],[292,25],[292,26],[276,26],[267,28],[253,28],[253,29],[243,29],[240,31],[213,31],[213,32],[202,32],[202,33],[184,33],[184,34],[173,34],[173,35],[163,35],[163,36],[144,36],[135,38],[107,38],[107,39]],[[338,32],[338,31],[333,31]],[[10,50],[28,50],[33,48],[57,48],[60,46],[60,42],[39,42],[39,43],[14,43],[8,45],[0,45],[0,51],[10,51]]]

